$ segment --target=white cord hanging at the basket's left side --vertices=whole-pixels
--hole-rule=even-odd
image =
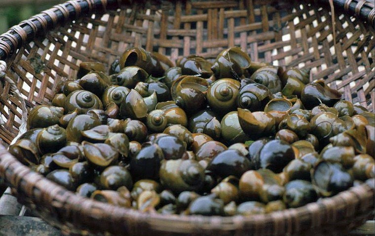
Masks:
[[[26,132],[26,123],[27,123],[27,108],[25,99],[22,97],[20,90],[18,90],[16,83],[11,79],[8,75],[6,75],[6,62],[0,61],[0,81],[7,82],[10,85],[10,91],[18,98],[18,100],[21,103],[21,109],[22,109],[22,118],[21,118],[21,124],[19,126],[19,132],[18,135],[13,139],[13,141],[10,144],[13,144],[17,141],[17,139]],[[0,125],[5,124],[5,121],[3,120],[1,114],[0,114]]]

